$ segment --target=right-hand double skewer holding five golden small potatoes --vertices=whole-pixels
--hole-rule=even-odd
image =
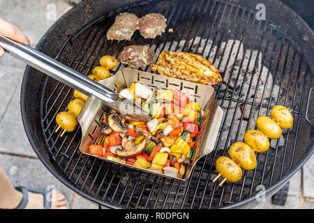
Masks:
[[[256,167],[256,153],[263,153],[269,149],[269,139],[278,139],[281,137],[281,128],[291,128],[293,117],[291,112],[281,105],[276,105],[271,109],[271,118],[259,116],[256,120],[256,126],[259,130],[248,130],[244,134],[244,142],[237,141],[229,148],[229,157],[218,157],[216,160],[216,169],[218,176],[214,178],[215,182],[220,176],[225,181],[237,182],[241,179],[242,169],[252,170]],[[269,138],[269,139],[268,139]]]

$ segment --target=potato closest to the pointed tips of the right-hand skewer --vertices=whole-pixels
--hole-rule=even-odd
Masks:
[[[237,182],[242,177],[242,169],[239,165],[225,156],[220,156],[217,159],[216,169],[229,182]]]

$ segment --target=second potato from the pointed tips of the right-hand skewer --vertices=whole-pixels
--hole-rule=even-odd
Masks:
[[[228,151],[231,159],[243,169],[251,170],[256,167],[256,156],[253,149],[244,142],[237,141]]]

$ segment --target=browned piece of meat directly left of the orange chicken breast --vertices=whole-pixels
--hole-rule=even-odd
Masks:
[[[140,68],[151,64],[155,59],[154,51],[147,46],[130,45],[124,47],[118,61],[128,64],[131,68]]]

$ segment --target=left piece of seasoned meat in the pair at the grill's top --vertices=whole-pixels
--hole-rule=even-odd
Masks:
[[[120,13],[107,31],[108,40],[130,40],[137,29],[138,17],[133,13]]]

